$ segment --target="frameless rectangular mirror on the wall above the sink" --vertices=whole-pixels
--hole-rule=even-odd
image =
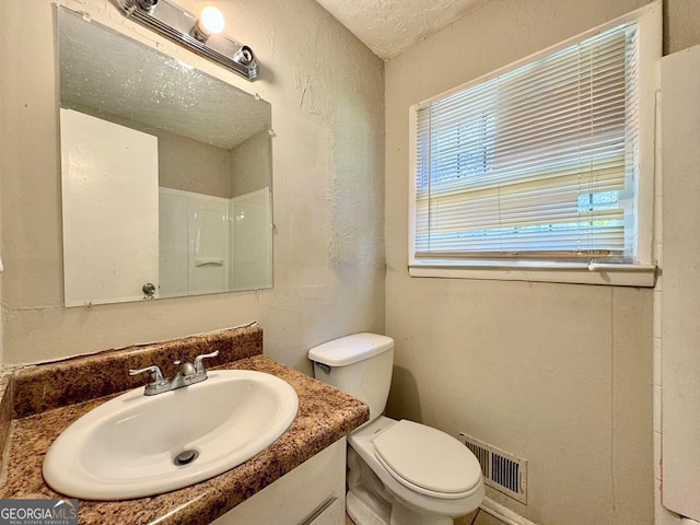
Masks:
[[[271,288],[270,104],[57,9],[66,306]]]

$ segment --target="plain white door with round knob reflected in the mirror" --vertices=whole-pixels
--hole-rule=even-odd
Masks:
[[[71,109],[60,120],[66,306],[141,300],[147,282],[158,295],[158,139]]]

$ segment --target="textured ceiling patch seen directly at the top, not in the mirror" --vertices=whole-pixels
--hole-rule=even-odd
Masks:
[[[316,0],[387,60],[487,0]]]

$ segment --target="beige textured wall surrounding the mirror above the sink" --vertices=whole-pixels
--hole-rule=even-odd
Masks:
[[[160,47],[272,104],[275,289],[62,306],[58,91],[51,0],[2,4],[4,362],[33,362],[249,320],[266,351],[311,372],[306,350],[384,329],[383,63],[313,0],[219,2],[255,49],[249,83],[172,44]],[[108,0],[66,0],[143,42]],[[178,0],[196,11],[203,2]]]

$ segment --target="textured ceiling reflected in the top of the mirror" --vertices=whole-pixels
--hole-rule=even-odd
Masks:
[[[68,10],[59,12],[61,105],[226,150],[270,128],[267,102]]]

